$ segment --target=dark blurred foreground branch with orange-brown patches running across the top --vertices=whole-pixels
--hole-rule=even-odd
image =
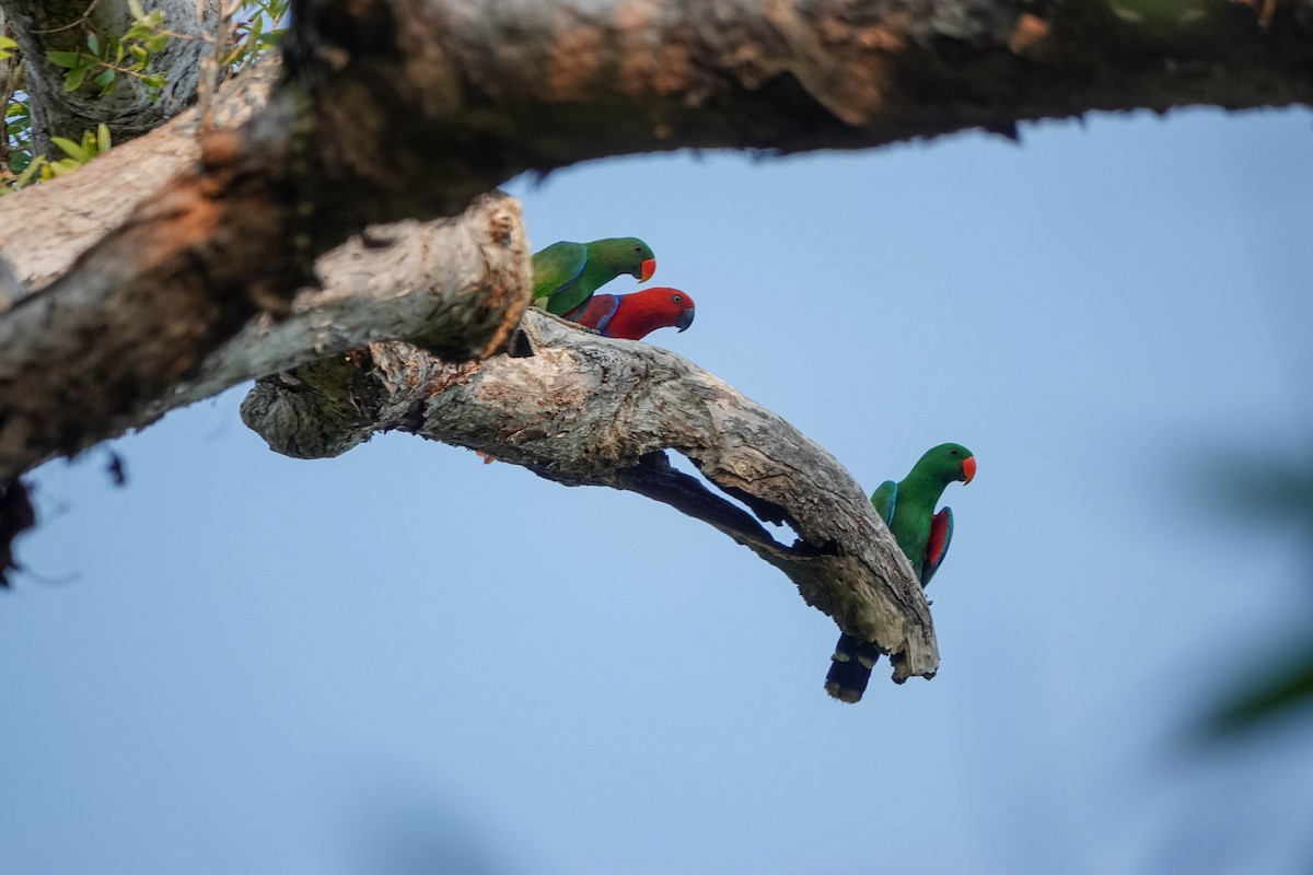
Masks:
[[[0,317],[0,471],[133,424],[370,222],[454,215],[520,171],[601,155],[1308,102],[1310,3],[306,0],[270,101]]]

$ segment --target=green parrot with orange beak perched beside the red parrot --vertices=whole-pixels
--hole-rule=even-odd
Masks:
[[[533,253],[533,304],[563,316],[622,273],[647,282],[655,272],[656,258],[638,237],[562,240]]]

